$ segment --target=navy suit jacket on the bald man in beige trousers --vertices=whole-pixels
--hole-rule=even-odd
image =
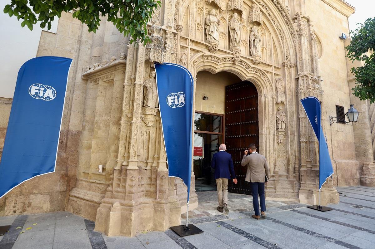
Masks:
[[[211,167],[215,170],[215,179],[217,178],[236,178],[232,155],[225,151],[219,151],[212,156]]]

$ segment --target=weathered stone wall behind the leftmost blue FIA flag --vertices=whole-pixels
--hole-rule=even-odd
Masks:
[[[75,181],[75,157],[78,154],[77,134],[68,132],[72,91],[77,72],[76,53],[80,46],[81,23],[72,18],[72,13],[62,13],[58,22],[57,33],[42,31],[37,57],[61,56],[73,58],[69,71],[68,89],[63,113],[60,142],[58,147],[56,171],[37,176],[17,186],[0,200],[0,216],[20,213],[41,213],[65,210],[66,195]],[[9,118],[10,104],[0,101],[0,148]],[[5,128],[4,128],[5,127]],[[69,149],[71,148],[71,149]],[[73,168],[68,165],[74,165]]]

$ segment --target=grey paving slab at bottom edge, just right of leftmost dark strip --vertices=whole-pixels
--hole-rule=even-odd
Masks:
[[[20,231],[21,232],[21,231]],[[27,230],[18,236],[14,243],[13,249],[24,249],[31,246],[41,246],[52,244],[55,231],[52,229],[44,231]]]

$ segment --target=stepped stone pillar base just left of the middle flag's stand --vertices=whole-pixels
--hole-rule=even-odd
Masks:
[[[96,214],[95,231],[107,236],[133,237],[138,231],[165,231],[181,223],[181,207],[177,201],[131,204],[114,199],[102,200]]]

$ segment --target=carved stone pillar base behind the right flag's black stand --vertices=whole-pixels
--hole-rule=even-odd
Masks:
[[[300,189],[299,191],[300,203],[309,205],[319,204],[319,191],[312,189]],[[320,204],[322,206],[327,204],[339,203],[339,193],[336,189],[322,189],[320,192]]]

